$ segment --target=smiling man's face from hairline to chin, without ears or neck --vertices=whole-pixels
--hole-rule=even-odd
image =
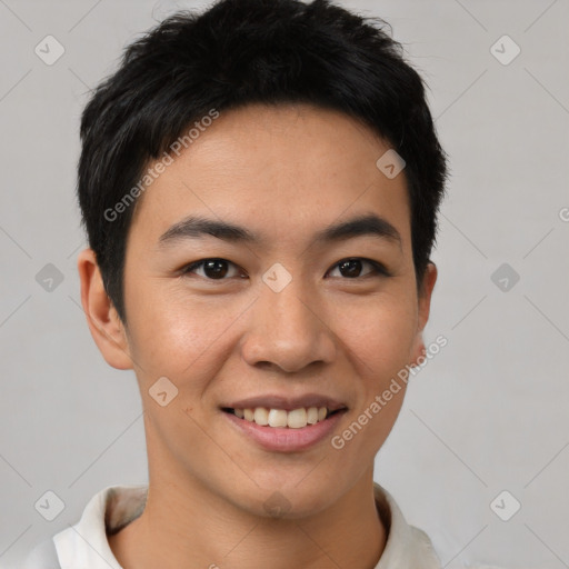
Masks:
[[[341,113],[250,106],[221,113],[146,191],[124,350],[151,483],[258,515],[278,491],[307,516],[370,471],[405,383],[370,409],[421,355],[435,283],[418,296],[405,174],[376,166],[388,148]]]

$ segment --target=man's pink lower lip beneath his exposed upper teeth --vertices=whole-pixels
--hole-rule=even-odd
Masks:
[[[221,412],[241,432],[253,439],[263,449],[273,452],[295,452],[306,450],[329,437],[346,411],[339,411],[323,421],[307,425],[301,429],[263,427],[246,419],[239,419],[233,413]]]

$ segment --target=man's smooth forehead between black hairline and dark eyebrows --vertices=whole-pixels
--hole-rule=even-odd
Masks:
[[[406,239],[405,174],[389,179],[377,168],[390,147],[356,119],[309,104],[254,104],[196,132],[139,199],[131,231],[156,242],[199,214],[290,240],[375,211]]]

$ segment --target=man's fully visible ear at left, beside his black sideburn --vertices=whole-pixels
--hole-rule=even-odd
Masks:
[[[91,336],[102,357],[113,368],[132,369],[124,326],[107,296],[92,249],[84,249],[79,253],[77,268],[81,280],[81,305]]]

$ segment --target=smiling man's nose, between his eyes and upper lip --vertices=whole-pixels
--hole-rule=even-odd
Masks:
[[[315,362],[330,363],[336,350],[322,302],[308,295],[300,279],[280,292],[261,287],[241,342],[244,361],[292,373]]]

